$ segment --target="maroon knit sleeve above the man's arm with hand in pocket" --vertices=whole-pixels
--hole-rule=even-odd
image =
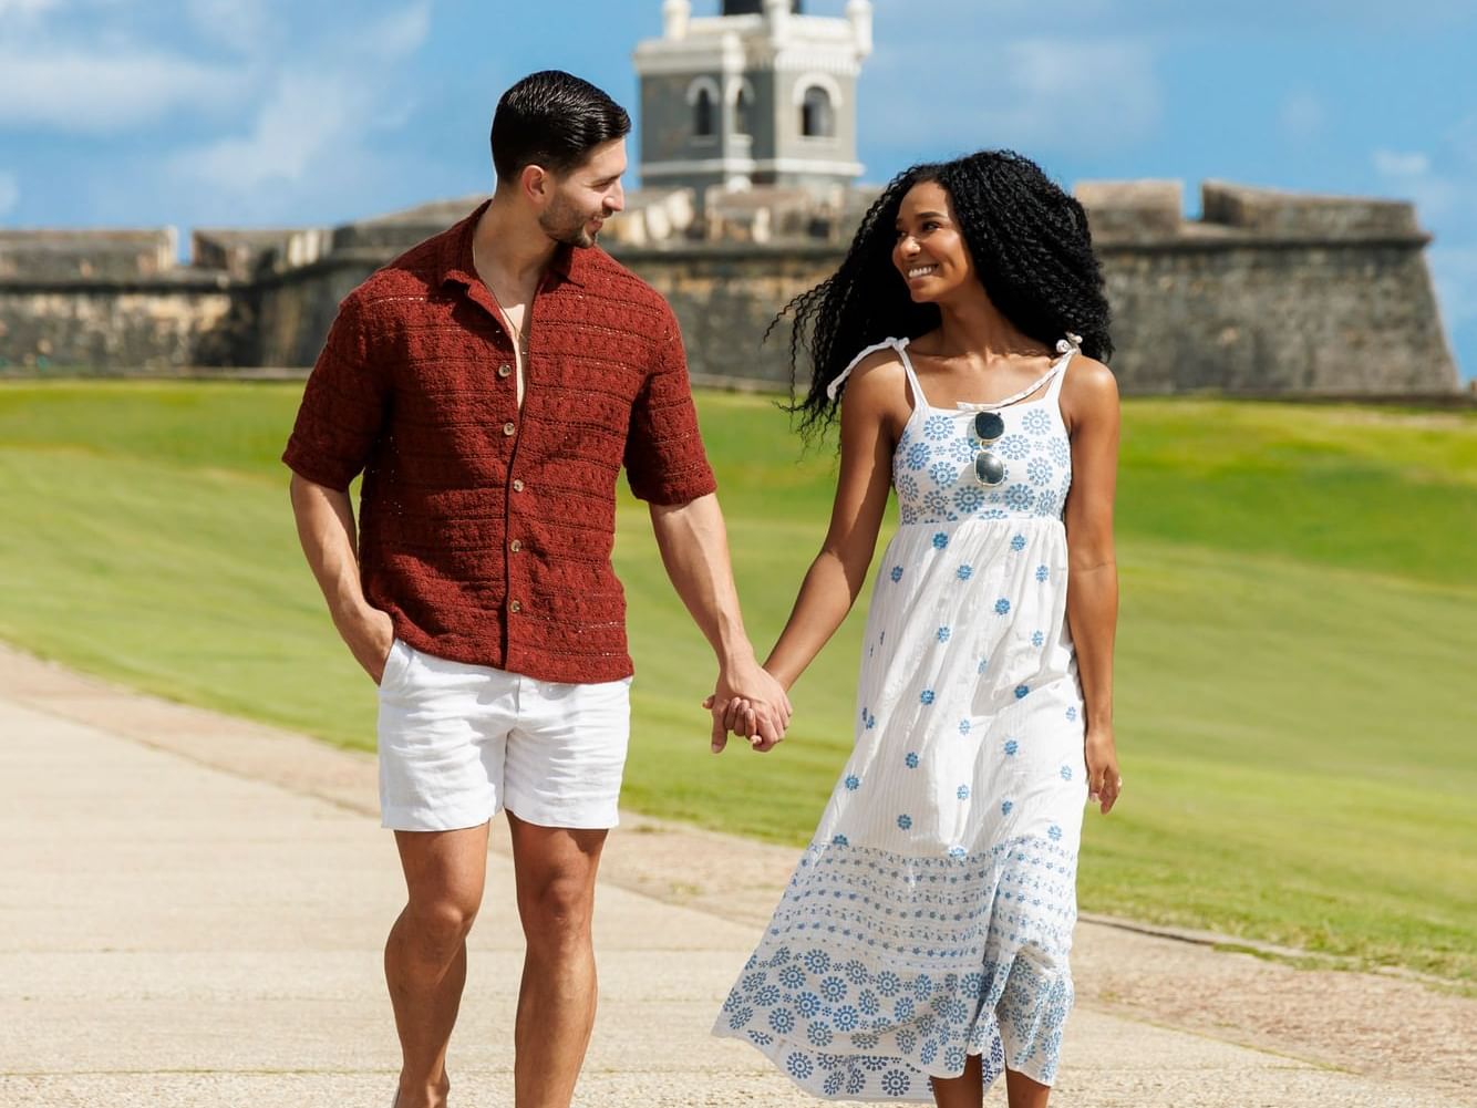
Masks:
[[[363,316],[353,294],[338,306],[282,454],[288,468],[329,489],[359,476],[384,423],[387,375]]]

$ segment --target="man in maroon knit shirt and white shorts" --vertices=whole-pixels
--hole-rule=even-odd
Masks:
[[[622,464],[718,654],[716,696],[758,706],[756,746],[789,722],[738,616],[676,321],[595,247],[623,205],[629,129],[569,74],[510,89],[493,198],[349,294],[284,455],[334,625],[380,684],[381,811],[409,892],[384,956],[397,1108],[446,1104],[487,821],[504,808],[527,941],[515,1102],[570,1102],[629,731],[610,564]],[[722,739],[715,719],[713,749]]]

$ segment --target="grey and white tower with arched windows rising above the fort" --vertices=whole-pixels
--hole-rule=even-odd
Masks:
[[[857,75],[871,53],[871,3],[845,18],[801,0],[724,0],[693,18],[665,0],[665,30],[635,52],[641,182],[691,188],[805,188],[833,201],[860,174]]]

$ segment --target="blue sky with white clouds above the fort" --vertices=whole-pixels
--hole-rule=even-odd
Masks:
[[[477,192],[501,90],[560,66],[634,105],[660,9],[0,0],[0,226],[297,226]],[[1192,214],[1207,177],[1415,199],[1477,375],[1473,0],[877,0],[876,41],[868,180],[1013,146],[1065,185],[1180,179]]]

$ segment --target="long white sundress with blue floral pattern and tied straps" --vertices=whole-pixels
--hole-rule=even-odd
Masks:
[[[1087,771],[1059,396],[1077,346],[1013,397],[939,409],[907,344],[852,362],[895,349],[914,400],[855,749],[713,1027],[830,1099],[932,1102],[929,1077],[972,1053],[987,1087],[1006,1067],[1050,1084],[1072,1005]],[[981,409],[1004,420],[993,489],[975,477]]]

